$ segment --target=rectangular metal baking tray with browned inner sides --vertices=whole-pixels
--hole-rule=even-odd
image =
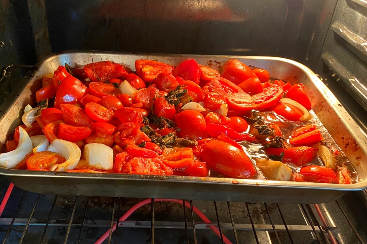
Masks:
[[[302,82],[309,94],[314,112],[337,144],[345,152],[359,175],[351,185],[301,183],[271,180],[245,180],[215,177],[152,176],[106,173],[44,172],[0,168],[15,186],[42,194],[116,196],[134,198],[175,198],[238,202],[325,203],[347,191],[367,188],[366,134],[346,112],[337,98],[309,68],[296,61],[279,57],[208,56],[135,54],[101,51],[65,51],[51,54],[34,65],[18,83],[18,90],[0,106],[0,144],[4,145],[21,123],[27,104],[33,104],[34,92],[40,87],[42,75],[67,63],[82,67],[92,61],[111,60],[135,70],[136,59],[152,59],[177,65],[195,58],[200,64],[219,68],[228,59],[265,68],[271,77],[291,83]]]

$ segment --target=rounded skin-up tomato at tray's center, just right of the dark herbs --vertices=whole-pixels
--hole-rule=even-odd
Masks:
[[[185,139],[206,138],[206,123],[204,116],[196,110],[183,110],[175,116],[179,137]]]

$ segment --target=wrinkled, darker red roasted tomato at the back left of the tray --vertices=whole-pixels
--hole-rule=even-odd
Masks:
[[[104,82],[127,74],[122,65],[110,61],[84,65],[84,71],[92,82]]]

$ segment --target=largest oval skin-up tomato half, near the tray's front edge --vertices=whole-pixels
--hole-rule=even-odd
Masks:
[[[221,140],[210,140],[200,154],[200,160],[209,168],[229,177],[248,179],[256,176],[250,158],[243,150]]]

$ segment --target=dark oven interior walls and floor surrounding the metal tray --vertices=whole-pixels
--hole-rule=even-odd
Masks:
[[[62,50],[279,56],[319,74],[367,131],[366,26],[363,0],[4,0],[0,101]],[[0,200],[2,243],[367,243],[366,190],[315,205],[148,199],[116,230],[145,199],[34,194],[0,176]]]

